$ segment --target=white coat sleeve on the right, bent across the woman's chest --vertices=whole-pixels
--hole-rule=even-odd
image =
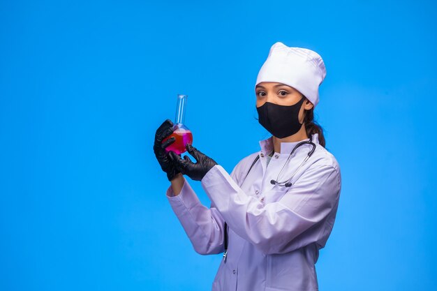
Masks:
[[[309,167],[281,200],[262,204],[246,195],[220,165],[202,187],[229,227],[262,253],[288,253],[329,236],[339,200],[341,177],[332,165]]]

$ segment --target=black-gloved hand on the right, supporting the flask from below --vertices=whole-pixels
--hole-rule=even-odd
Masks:
[[[198,149],[191,144],[187,144],[186,149],[188,150],[188,153],[195,158],[197,163],[193,163],[188,156],[181,158],[181,156],[177,155],[174,151],[169,151],[168,154],[177,170],[182,172],[182,174],[186,174],[193,180],[200,181],[205,174],[214,167],[214,165],[217,165],[217,163],[212,158],[209,158],[209,156],[202,154],[202,152],[198,151]]]

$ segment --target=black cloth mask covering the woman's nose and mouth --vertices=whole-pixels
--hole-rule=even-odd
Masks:
[[[299,110],[302,103],[304,103],[303,96],[299,102],[290,106],[266,102],[256,107],[258,121],[275,137],[283,138],[294,135],[302,127],[299,122]]]

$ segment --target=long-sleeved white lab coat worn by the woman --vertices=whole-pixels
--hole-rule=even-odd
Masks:
[[[223,227],[228,223],[228,258],[220,262],[213,291],[318,290],[315,264],[334,225],[341,173],[317,134],[313,142],[316,150],[290,188],[270,180],[276,180],[298,142],[281,143],[281,154],[275,152],[267,167],[272,137],[261,140],[260,151],[243,158],[230,175],[221,165],[207,172],[201,183],[211,200],[209,208],[186,180],[177,196],[168,188],[170,205],[196,252],[223,253]],[[291,177],[310,149],[309,144],[296,149],[279,181]]]

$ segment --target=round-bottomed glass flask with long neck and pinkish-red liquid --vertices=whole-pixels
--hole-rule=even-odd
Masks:
[[[187,98],[188,95],[177,95],[176,119],[173,126],[175,131],[163,140],[165,142],[165,140],[175,137],[175,142],[166,147],[165,150],[175,151],[176,154],[184,153],[186,151],[186,144],[193,144],[193,133],[184,125]]]

